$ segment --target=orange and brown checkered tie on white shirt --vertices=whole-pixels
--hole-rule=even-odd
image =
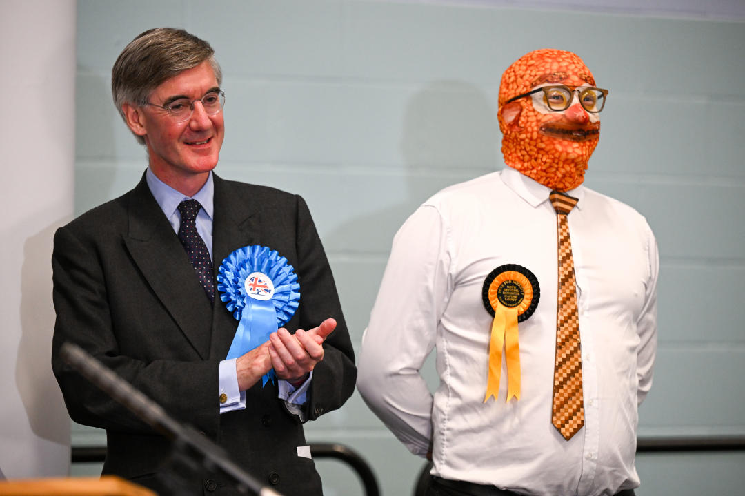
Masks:
[[[554,361],[554,401],[551,423],[565,439],[571,439],[585,425],[582,395],[582,347],[577,314],[574,260],[567,215],[577,199],[558,191],[549,196],[557,211],[559,230],[559,298],[557,301],[557,355]]]

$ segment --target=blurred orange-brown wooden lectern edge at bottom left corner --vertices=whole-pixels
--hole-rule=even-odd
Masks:
[[[0,480],[0,496],[156,496],[121,477]]]

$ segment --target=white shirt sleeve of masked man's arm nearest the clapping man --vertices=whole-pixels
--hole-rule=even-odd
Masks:
[[[419,370],[450,292],[447,237],[440,213],[426,205],[396,233],[358,358],[363,399],[419,456],[430,447],[433,401]]]

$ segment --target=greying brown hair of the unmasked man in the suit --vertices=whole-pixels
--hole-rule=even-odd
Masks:
[[[165,80],[205,61],[212,65],[219,86],[223,74],[208,42],[183,29],[145,31],[124,48],[111,70],[111,93],[116,109],[124,118],[124,103],[134,106],[148,103],[150,93]],[[135,138],[145,144],[142,136]]]

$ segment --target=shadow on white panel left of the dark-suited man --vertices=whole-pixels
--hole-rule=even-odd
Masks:
[[[59,219],[23,245],[21,267],[21,339],[16,358],[16,387],[31,430],[38,437],[70,445],[70,417],[51,371],[54,307],[51,301],[51,239]]]

